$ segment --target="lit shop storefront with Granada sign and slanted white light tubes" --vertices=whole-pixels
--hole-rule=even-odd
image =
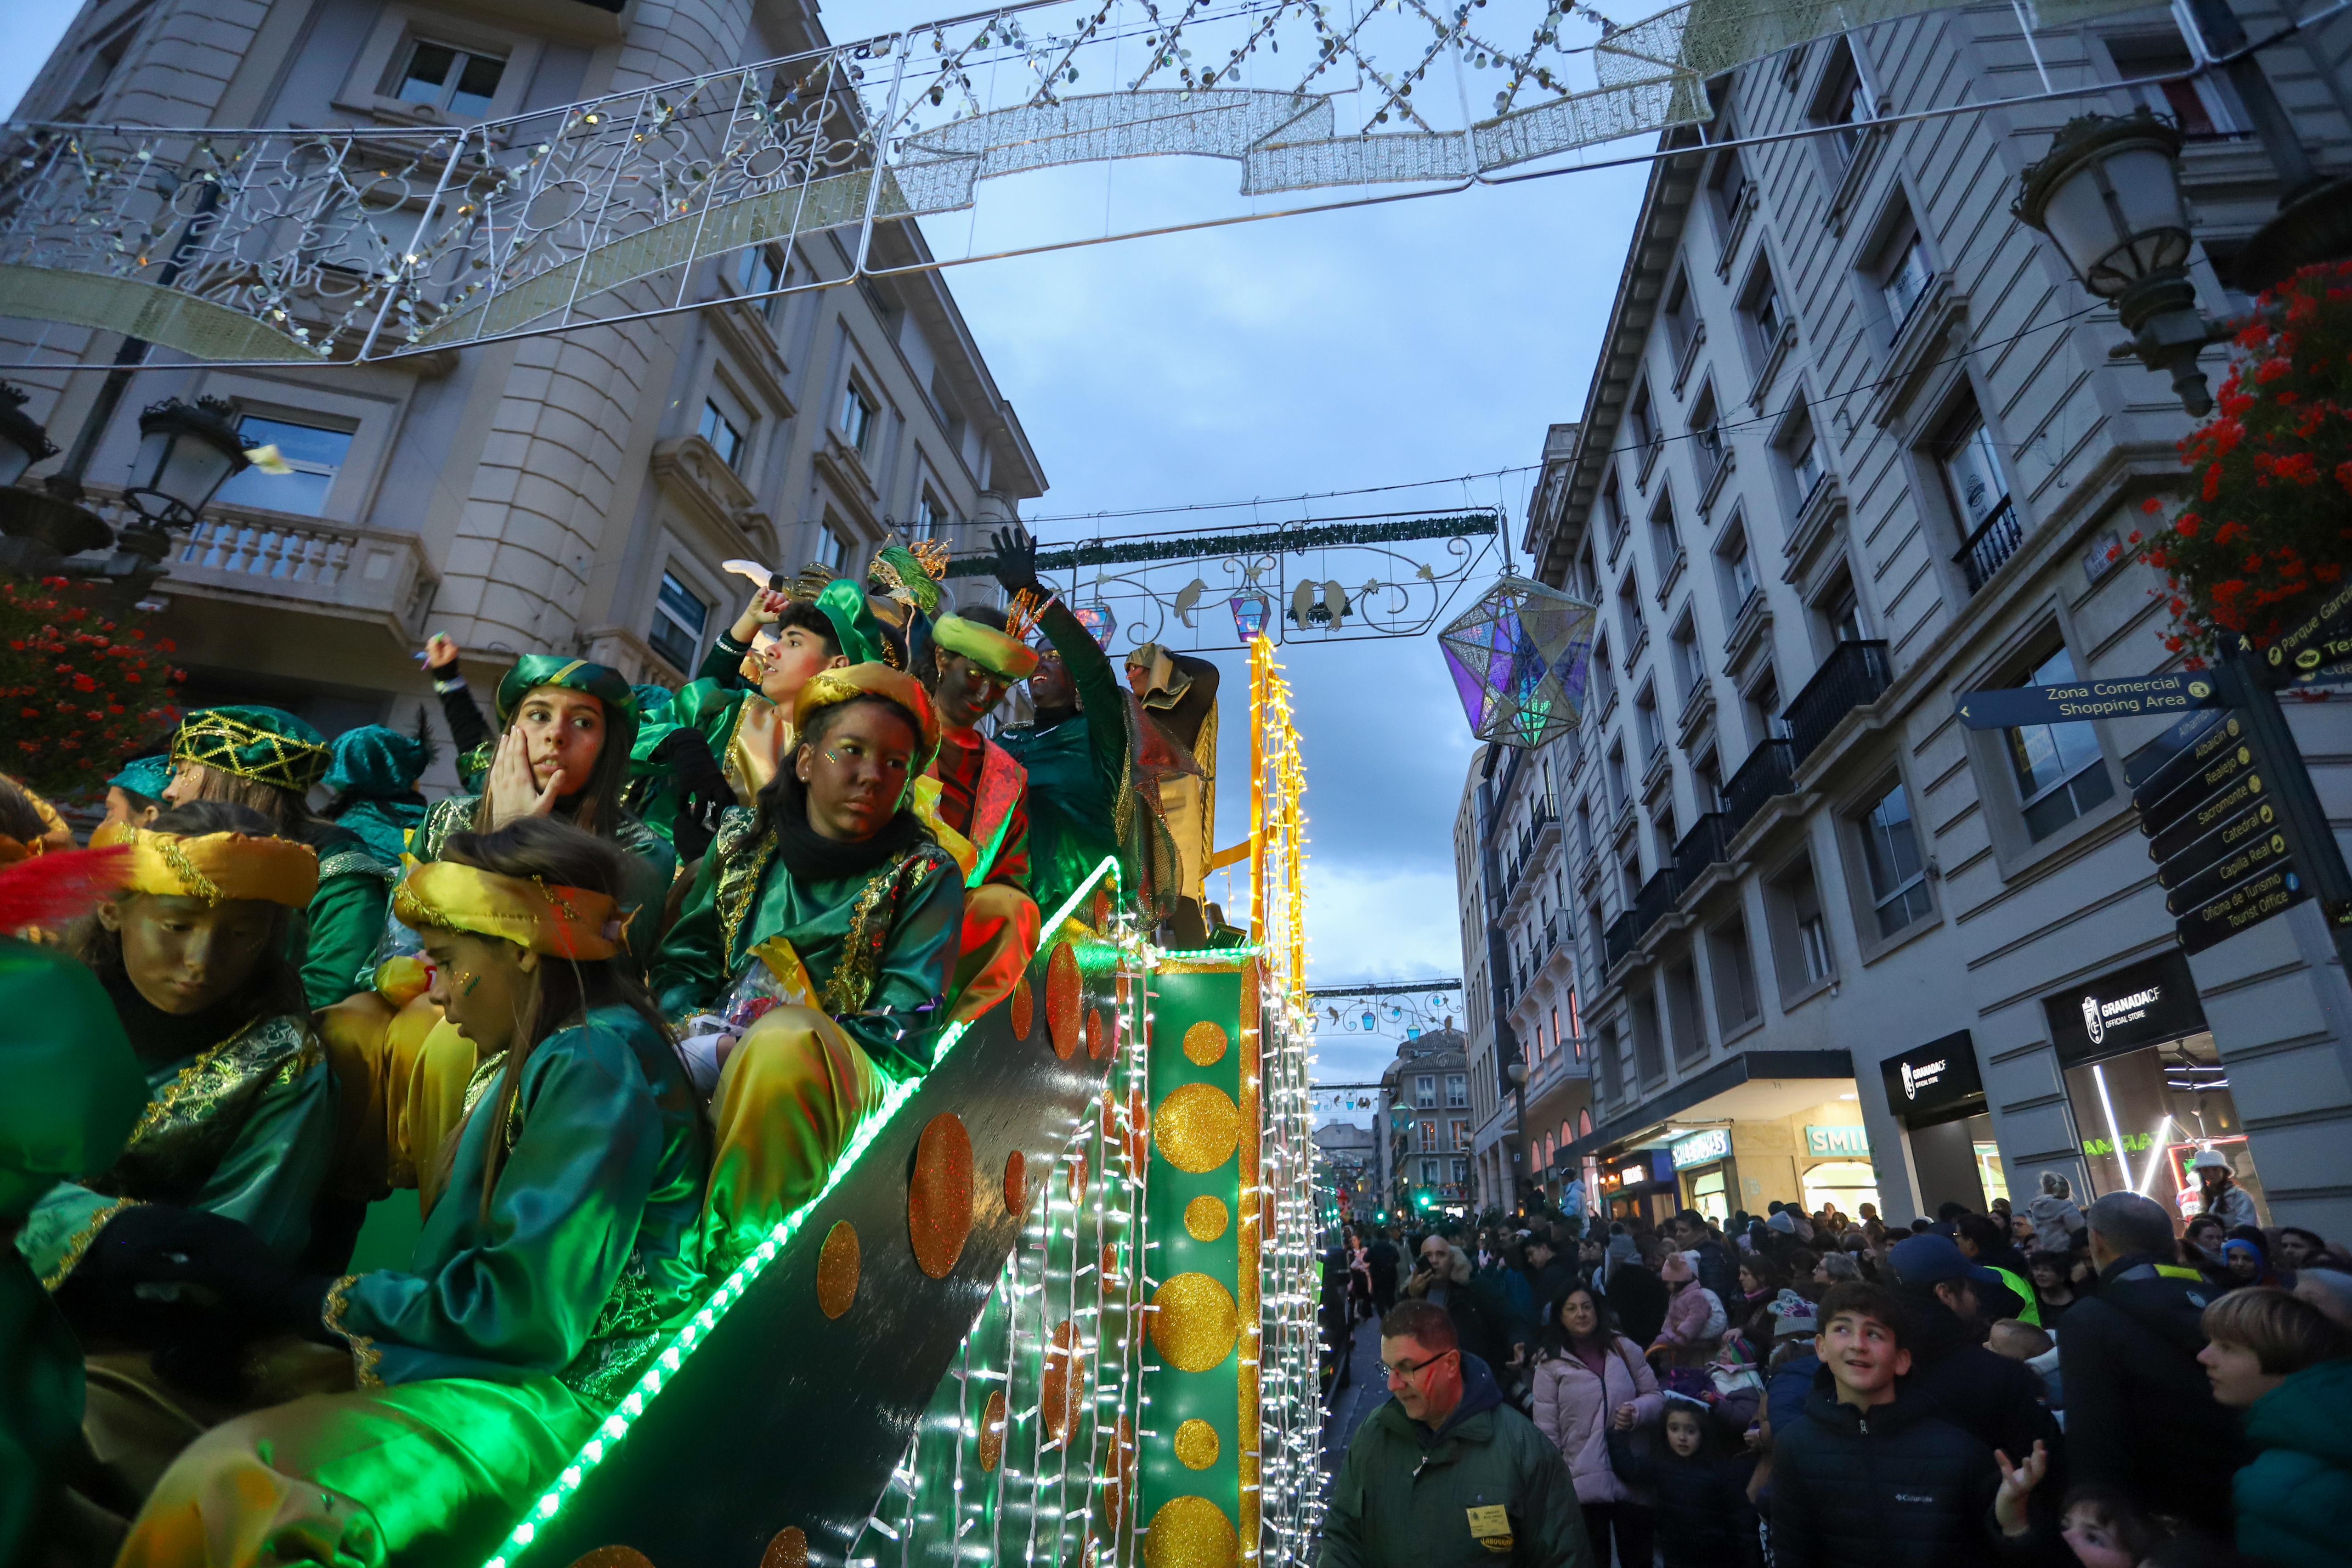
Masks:
[[[2190,1218],[2204,1208],[2192,1164],[2216,1150],[2270,1222],[2230,1072],[2185,957],[2166,952],[2117,969],[2042,1006],[2093,1194],[2140,1192]]]

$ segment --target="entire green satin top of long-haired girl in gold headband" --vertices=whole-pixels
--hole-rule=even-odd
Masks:
[[[670,1044],[626,1006],[588,1013],[522,1063],[510,1131],[492,1084],[405,1272],[329,1293],[362,1387],[560,1378],[612,1406],[701,1288],[694,1227],[710,1145]],[[492,1138],[513,1147],[489,1218]]]

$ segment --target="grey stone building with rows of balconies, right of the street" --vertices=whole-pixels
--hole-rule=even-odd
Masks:
[[[2347,54],[2343,16],[2260,52],[2336,172]],[[2317,907],[2183,959],[2126,778],[2164,722],[1955,717],[2173,663],[2119,545],[2180,494],[2190,421],[2009,202],[2065,115],[2173,113],[2201,303],[2244,308],[2227,263],[2279,193],[2218,78],[2133,85],[2187,63],[2164,9],[2032,40],[1933,12],[1715,82],[1715,125],[1651,169],[1526,531],[1599,607],[1590,708],[1496,769],[1541,783],[1498,842],[1562,846],[1569,952],[1534,969],[1573,973],[1595,1126],[1566,1159],[1621,1213],[1907,1220],[2044,1171],[2192,1206],[2216,1147],[2274,1222],[2352,1225],[2352,992]],[[1882,122],[2044,75],[2093,92]],[[1818,134],[1717,146],[1780,132]],[[2291,719],[2343,825],[2352,717]]]

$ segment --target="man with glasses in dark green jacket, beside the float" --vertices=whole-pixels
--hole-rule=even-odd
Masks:
[[[1425,1300],[1381,1321],[1390,1399],[1348,1443],[1319,1568],[1592,1568],[1566,1460]]]

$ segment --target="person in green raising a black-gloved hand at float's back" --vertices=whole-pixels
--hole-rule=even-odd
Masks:
[[[1051,651],[1030,675],[1035,724],[997,736],[1028,771],[1030,891],[1058,910],[1105,856],[1138,898],[1174,891],[1174,839],[1134,788],[1134,729],[1127,686],[1077,616],[1037,581],[1037,541],[1021,524],[990,538],[995,578],[1009,597],[1028,595]],[[1150,872],[1157,867],[1157,877]]]

